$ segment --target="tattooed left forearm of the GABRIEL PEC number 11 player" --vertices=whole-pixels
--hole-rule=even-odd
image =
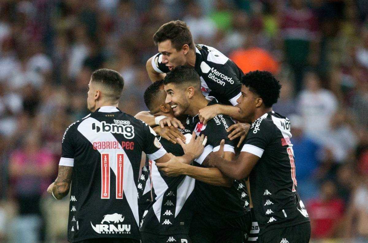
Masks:
[[[71,176],[73,173],[73,167],[71,166],[59,166],[59,174],[54,182],[52,189],[54,196],[61,199],[68,195],[71,183]]]

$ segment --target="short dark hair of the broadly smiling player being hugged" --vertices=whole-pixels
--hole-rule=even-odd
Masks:
[[[177,66],[173,68],[163,79],[163,83],[175,84],[180,86],[193,86],[196,89],[201,89],[201,80],[197,71],[194,68],[186,66]]]

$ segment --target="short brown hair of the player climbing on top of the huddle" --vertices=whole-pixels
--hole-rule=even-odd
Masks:
[[[195,48],[189,27],[181,20],[170,21],[161,25],[158,31],[153,35],[153,42],[155,42],[155,45],[165,40],[171,40],[172,45],[177,51],[181,50],[185,44],[193,50]]]

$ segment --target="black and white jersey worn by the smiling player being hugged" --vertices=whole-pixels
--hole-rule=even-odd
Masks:
[[[217,104],[212,96],[206,97],[211,102],[208,105]],[[218,115],[209,120],[206,125],[199,122],[198,115],[188,116],[187,126],[199,135],[207,136],[207,145],[201,156],[195,159],[195,166],[202,166],[204,159],[210,152],[216,152],[220,148],[220,142],[225,140],[224,151],[234,152],[237,141],[231,141],[227,137],[227,128],[234,124],[228,116]],[[249,196],[245,180],[234,180],[231,187],[212,186],[197,181],[195,184],[195,211],[198,215],[206,215],[212,218],[234,218],[250,211]]]

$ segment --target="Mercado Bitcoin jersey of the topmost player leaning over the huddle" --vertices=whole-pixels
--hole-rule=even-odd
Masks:
[[[152,67],[158,73],[170,70],[162,63],[162,54],[152,58]],[[240,97],[243,71],[228,57],[213,47],[195,45],[195,71],[201,78],[201,89],[205,96],[214,96],[225,105],[237,105]]]

